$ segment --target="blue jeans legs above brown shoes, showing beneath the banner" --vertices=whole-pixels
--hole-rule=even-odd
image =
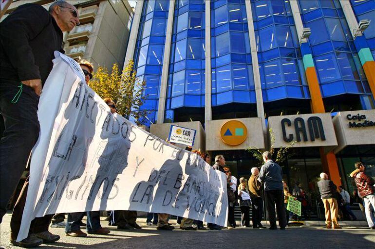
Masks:
[[[84,212],[69,213],[66,221],[65,232],[74,232],[80,229]],[[100,225],[100,211],[89,211],[87,216],[87,232],[96,232],[102,228]]]

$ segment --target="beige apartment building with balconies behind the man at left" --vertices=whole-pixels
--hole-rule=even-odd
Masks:
[[[48,9],[53,0],[13,0],[3,20],[19,5],[37,3]],[[79,26],[64,33],[65,54],[89,60],[94,67],[123,67],[134,11],[127,0],[70,0],[79,12]]]

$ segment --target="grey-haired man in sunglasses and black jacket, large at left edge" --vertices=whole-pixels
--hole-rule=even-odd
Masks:
[[[37,4],[24,4],[0,23],[0,108],[5,124],[0,142],[0,219],[38,140],[38,100],[53,67],[54,51],[61,51],[62,32],[79,23],[77,13],[65,1],[54,2],[49,11]],[[33,224],[30,231],[43,232],[33,229]],[[12,233],[11,242],[18,246],[42,242],[34,235],[15,242],[16,236]]]

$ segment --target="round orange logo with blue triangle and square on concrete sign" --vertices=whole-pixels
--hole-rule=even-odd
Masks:
[[[247,138],[246,126],[238,120],[230,120],[220,129],[220,137],[227,145],[240,145]]]

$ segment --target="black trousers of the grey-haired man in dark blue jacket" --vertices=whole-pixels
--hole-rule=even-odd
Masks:
[[[282,190],[267,190],[264,191],[267,211],[269,215],[269,224],[271,228],[276,228],[276,213],[279,219],[280,228],[285,228],[285,204],[284,193]],[[276,204],[276,210],[275,210]]]

